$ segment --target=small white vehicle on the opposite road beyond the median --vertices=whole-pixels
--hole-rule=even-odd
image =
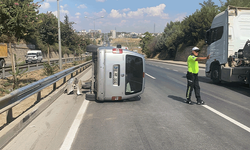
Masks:
[[[29,50],[26,55],[26,63],[42,62],[43,55],[41,50]]]

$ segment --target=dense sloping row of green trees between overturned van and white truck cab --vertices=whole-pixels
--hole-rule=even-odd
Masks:
[[[220,12],[220,8],[212,0],[200,3],[200,6],[200,10],[196,10],[182,21],[167,23],[159,37],[142,39],[142,52],[148,57],[160,52],[168,58],[174,58],[177,50],[183,45],[193,46],[199,43],[202,47],[201,44],[205,43],[200,41],[204,41],[206,31],[210,28],[215,15]],[[165,57],[161,56],[161,58]]]

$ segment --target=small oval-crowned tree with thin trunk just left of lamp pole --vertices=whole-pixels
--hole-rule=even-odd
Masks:
[[[50,64],[50,45],[55,44],[58,35],[57,18],[51,13],[41,14],[42,23],[39,26],[40,38],[47,45],[48,62]]]

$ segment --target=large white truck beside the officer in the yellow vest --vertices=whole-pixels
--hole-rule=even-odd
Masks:
[[[206,76],[214,83],[250,83],[250,8],[228,6],[206,36]]]

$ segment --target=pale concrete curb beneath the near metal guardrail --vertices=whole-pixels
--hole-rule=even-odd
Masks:
[[[85,69],[74,78],[81,78],[84,72],[89,71],[91,67]],[[64,93],[66,84],[59,87],[51,95],[41,100],[37,106],[34,106],[23,115],[19,116],[13,122],[4,127],[0,132],[0,149],[3,149],[10,140],[17,136],[29,123],[31,123],[40,113],[42,113],[47,107],[49,107],[59,96]]]

